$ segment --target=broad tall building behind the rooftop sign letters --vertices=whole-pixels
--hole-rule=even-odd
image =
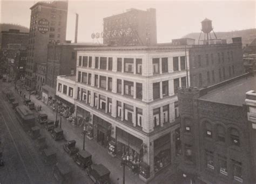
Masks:
[[[152,45],[157,43],[156,9],[129,9],[103,19],[103,44]]]

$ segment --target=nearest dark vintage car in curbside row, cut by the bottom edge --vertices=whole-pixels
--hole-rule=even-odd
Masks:
[[[87,175],[94,183],[110,184],[110,171],[102,164],[93,164],[86,168]]]

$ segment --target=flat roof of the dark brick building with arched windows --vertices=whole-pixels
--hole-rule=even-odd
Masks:
[[[246,77],[231,81],[231,83],[218,87],[217,89],[208,92],[206,95],[199,99],[212,101],[216,103],[230,104],[236,106],[242,106],[245,103],[247,91],[256,91],[256,76]]]

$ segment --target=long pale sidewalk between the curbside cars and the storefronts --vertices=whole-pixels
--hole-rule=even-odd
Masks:
[[[26,92],[29,95],[29,92]],[[43,103],[41,100],[37,100],[35,95],[30,96],[31,101],[35,103],[35,107],[38,105],[42,106],[42,111],[39,113],[48,114],[48,119],[56,119],[56,112],[53,112],[51,108]],[[59,119],[59,117],[58,117]],[[73,127],[71,123],[66,119],[62,118],[62,129],[64,131],[64,137],[66,140],[76,140],[76,146],[82,150],[83,149],[83,136],[81,135],[82,127]],[[123,183],[123,166],[121,166],[121,161],[117,158],[112,158],[107,153],[107,149],[100,146],[95,140],[89,140],[85,137],[85,150],[92,154],[93,163],[102,163],[106,166],[111,174],[110,179],[112,183]],[[117,180],[119,178],[119,181]],[[130,168],[125,167],[125,183],[144,183],[139,179],[138,174],[134,175]]]

